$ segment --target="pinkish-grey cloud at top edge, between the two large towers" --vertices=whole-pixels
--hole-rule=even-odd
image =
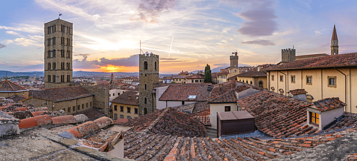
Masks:
[[[149,23],[156,24],[157,17],[169,9],[174,8],[176,6],[178,0],[141,0],[138,9],[137,19],[131,19],[133,21],[145,21]]]

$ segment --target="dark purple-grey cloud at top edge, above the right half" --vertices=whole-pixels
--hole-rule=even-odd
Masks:
[[[236,14],[244,22],[241,28],[238,28],[238,33],[246,36],[271,36],[273,31],[277,29],[278,24],[273,19],[277,17],[274,15],[275,10],[271,9],[273,1],[232,1],[224,0],[225,3],[243,5],[247,4],[246,11]]]

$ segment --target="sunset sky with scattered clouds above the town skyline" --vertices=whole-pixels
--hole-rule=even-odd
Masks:
[[[160,73],[357,51],[357,1],[347,0],[5,0],[0,5],[0,71],[44,71],[44,23],[74,24],[74,71],[139,72],[141,50],[158,54]]]

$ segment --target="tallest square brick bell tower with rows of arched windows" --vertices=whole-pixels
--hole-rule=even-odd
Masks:
[[[45,88],[72,85],[73,24],[61,19],[44,24]]]

